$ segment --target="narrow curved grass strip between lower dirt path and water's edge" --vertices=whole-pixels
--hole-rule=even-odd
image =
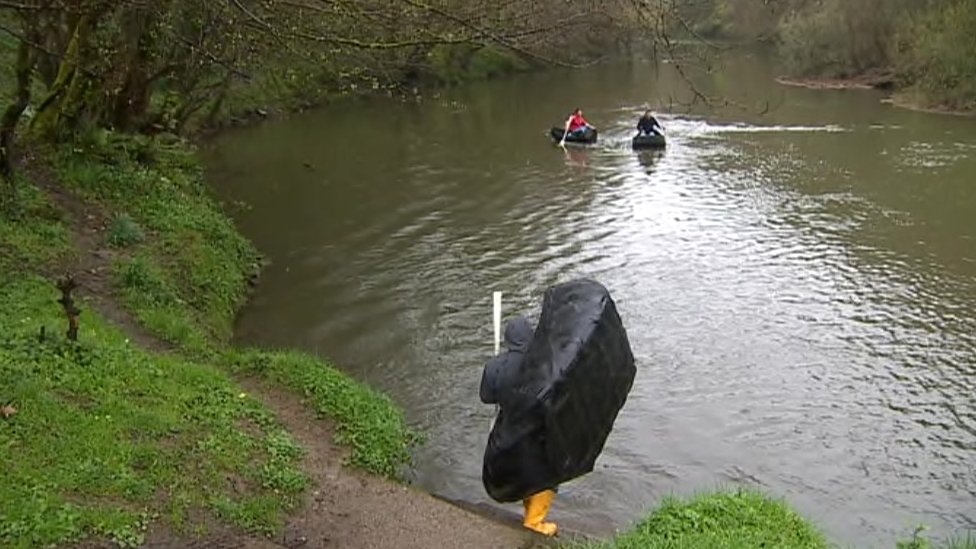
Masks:
[[[239,374],[259,375],[304,394],[318,413],[336,422],[336,441],[352,449],[350,463],[365,471],[396,478],[419,441],[389,398],[314,357],[248,351],[233,364]]]

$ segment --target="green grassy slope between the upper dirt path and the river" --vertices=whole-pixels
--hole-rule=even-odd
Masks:
[[[256,250],[208,195],[187,144],[172,138],[102,136],[63,149],[56,167],[69,188],[110,210],[129,212],[135,223],[155,235],[147,245],[166,298],[159,301],[157,295],[147,301],[127,291],[127,299],[147,327],[169,341],[192,339],[187,330],[194,326],[200,329],[191,331],[199,331],[201,337],[226,340],[245,298],[247,280],[257,268]],[[146,159],[152,159],[151,166],[145,165]],[[150,305],[169,307],[172,314],[159,314]],[[184,305],[194,313],[179,311]]]

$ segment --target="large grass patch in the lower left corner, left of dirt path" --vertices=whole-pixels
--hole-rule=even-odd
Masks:
[[[0,400],[17,408],[0,421],[0,546],[136,546],[151,518],[187,528],[226,500],[248,529],[280,527],[306,481],[274,416],[223,371],[147,353],[84,305],[78,343],[39,341],[63,329],[57,296],[32,276],[0,286]]]

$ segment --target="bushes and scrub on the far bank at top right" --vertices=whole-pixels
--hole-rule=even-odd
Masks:
[[[710,36],[764,40],[792,76],[876,75],[901,103],[976,110],[976,0],[710,0]]]

